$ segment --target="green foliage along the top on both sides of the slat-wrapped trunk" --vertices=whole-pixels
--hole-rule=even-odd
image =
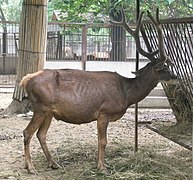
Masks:
[[[6,20],[19,21],[23,0],[0,0]],[[65,14],[63,21],[67,22],[104,22],[112,10],[124,7],[130,22],[135,22],[136,1],[134,0],[49,0],[48,18],[52,18],[53,10]],[[145,0],[140,1],[141,10],[151,10],[159,7],[160,18],[177,18],[193,15],[192,0]]]

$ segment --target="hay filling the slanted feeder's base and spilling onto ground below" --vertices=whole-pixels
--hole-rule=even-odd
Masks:
[[[184,83],[184,86],[187,83]],[[172,122],[170,119],[165,122],[152,121],[150,129],[151,127],[155,128],[156,132],[162,136],[191,149],[193,99],[190,97],[192,97],[192,94],[190,94],[190,91],[182,89],[180,83],[176,85],[163,84],[163,87],[175,115],[176,122]]]

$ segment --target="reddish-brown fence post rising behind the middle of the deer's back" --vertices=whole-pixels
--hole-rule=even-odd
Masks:
[[[87,60],[87,29],[88,27],[84,25],[82,27],[82,70],[86,70],[86,60]]]

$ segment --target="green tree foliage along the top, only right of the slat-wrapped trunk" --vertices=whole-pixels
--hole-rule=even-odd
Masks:
[[[124,7],[130,22],[135,22],[136,1],[134,0],[52,0],[50,2],[55,9],[66,13],[62,18],[68,22],[89,22],[89,13],[95,17],[92,22],[101,22],[103,16],[109,16],[110,12],[115,12]],[[141,10],[151,10],[155,12],[160,9],[160,18],[177,18],[192,16],[192,0],[145,0],[140,1]],[[99,16],[100,15],[100,16]]]

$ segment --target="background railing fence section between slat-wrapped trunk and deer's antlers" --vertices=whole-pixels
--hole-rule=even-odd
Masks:
[[[119,36],[122,35],[119,33]],[[110,53],[114,51],[110,24],[82,25],[52,22],[48,25],[47,42],[47,60],[52,61],[81,60],[84,50],[88,61],[128,61],[135,58],[135,42],[129,34],[120,42],[125,44],[126,57],[110,58]]]

